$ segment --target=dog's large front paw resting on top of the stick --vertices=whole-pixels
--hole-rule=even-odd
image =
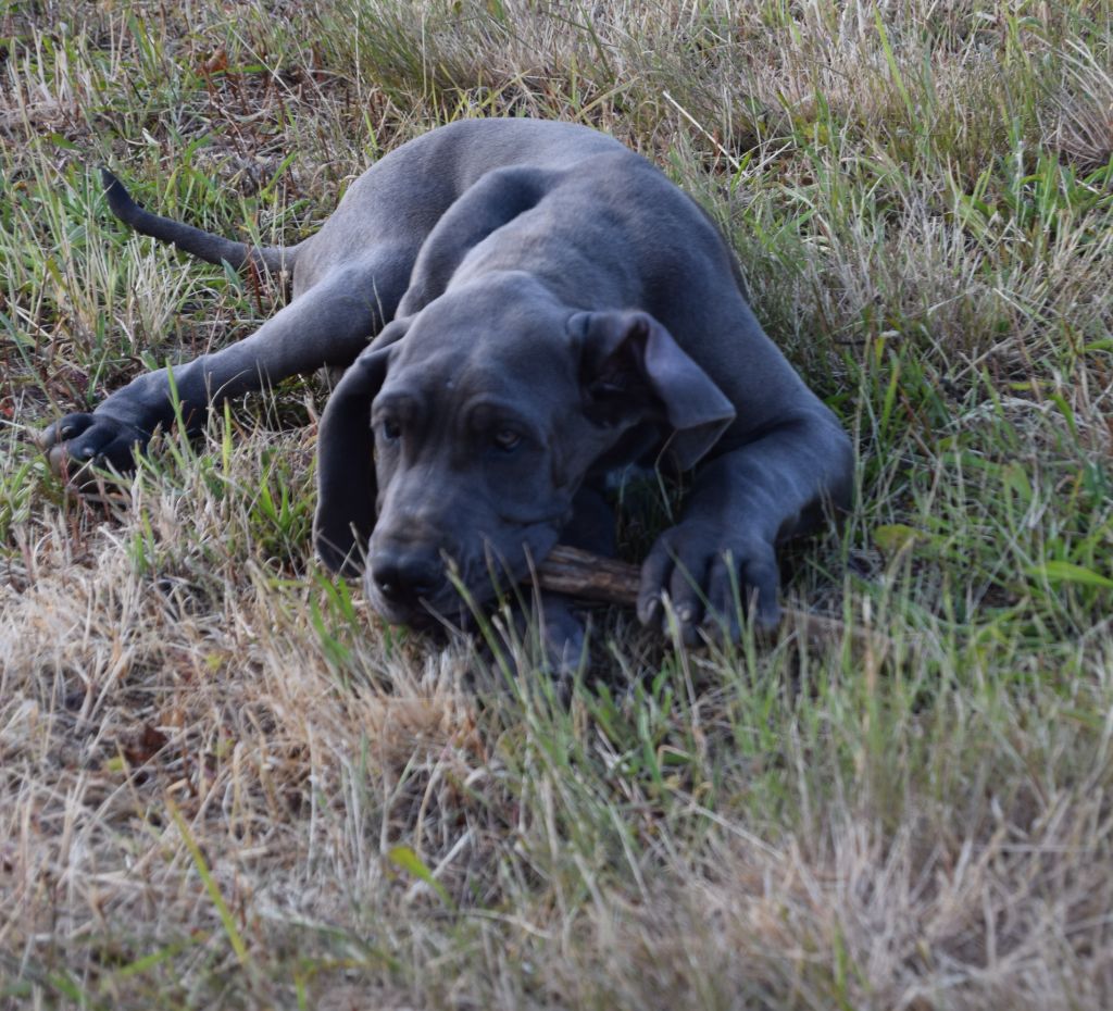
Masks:
[[[667,629],[662,595],[668,595],[687,645],[699,642],[701,629],[711,637],[735,641],[740,632],[740,611],[762,630],[777,627],[779,583],[777,557],[769,541],[686,521],[666,530],[643,562],[638,617],[643,625]]]

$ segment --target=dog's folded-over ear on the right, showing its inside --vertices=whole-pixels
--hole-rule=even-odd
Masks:
[[[669,453],[695,467],[735,420],[735,406],[649,313],[577,313],[580,382],[589,416],[620,424],[654,413],[673,428]],[[663,412],[662,412],[663,409]]]

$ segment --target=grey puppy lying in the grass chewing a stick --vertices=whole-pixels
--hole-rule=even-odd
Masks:
[[[138,207],[127,224],[203,259],[293,268],[293,298],[246,340],[117,391],[43,433],[56,470],[126,469],[174,418],[322,366],[317,552],[365,568],[386,619],[489,600],[561,540],[613,549],[607,475],[695,470],[641,570],[640,619],[673,603],[688,641],[735,637],[739,601],[779,619],[778,541],[845,507],[846,433],[754,317],[699,205],[587,127],[476,119],[429,132],[352,184],[319,232],[254,248]],[[368,343],[370,342],[370,343]],[[374,460],[374,462],[372,462]],[[552,605],[549,610],[549,603]],[[546,615],[574,638],[560,601]],[[551,634],[552,635],[552,634]]]

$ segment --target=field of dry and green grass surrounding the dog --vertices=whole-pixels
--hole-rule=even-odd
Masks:
[[[1113,1007],[1110,0],[0,0],[0,1007]],[[595,611],[442,649],[313,560],[323,386],[122,502],[30,444],[285,294],[109,215],[296,242],[465,116],[695,194],[854,433],[823,641]],[[647,537],[627,517],[624,550]]]

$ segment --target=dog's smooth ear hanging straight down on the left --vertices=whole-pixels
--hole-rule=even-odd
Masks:
[[[357,357],[321,415],[317,433],[317,512],[313,541],[317,556],[334,572],[356,576],[375,526],[375,463],[371,402],[386,377],[394,344],[408,328],[395,320]]]

